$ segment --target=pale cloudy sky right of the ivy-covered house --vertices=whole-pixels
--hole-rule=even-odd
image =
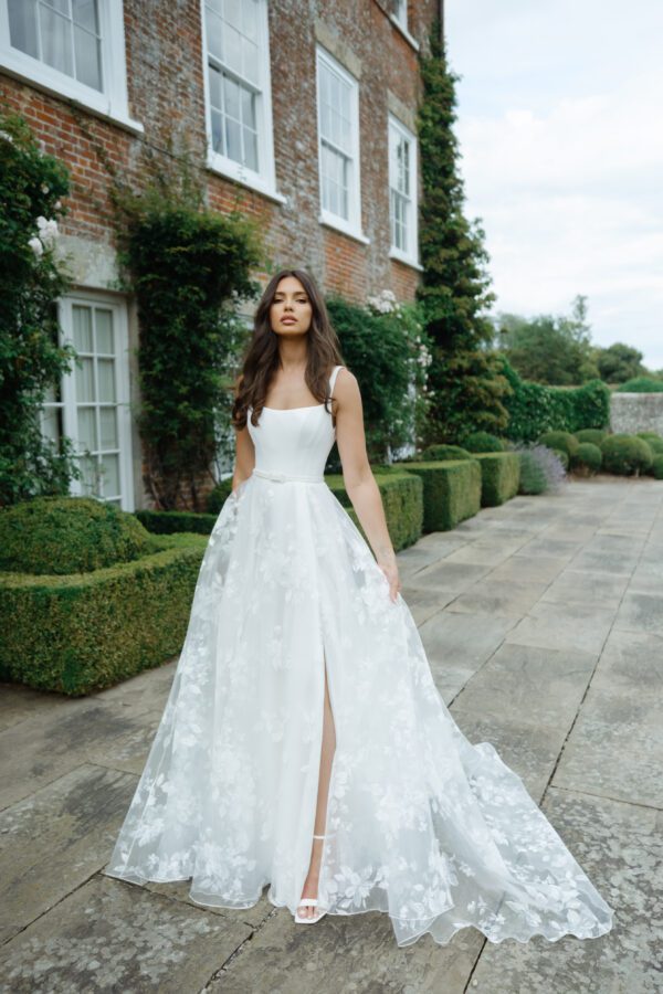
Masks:
[[[663,369],[663,0],[446,0],[493,314],[569,314]]]

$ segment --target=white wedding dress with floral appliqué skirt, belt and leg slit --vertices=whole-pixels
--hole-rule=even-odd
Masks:
[[[329,392],[338,370],[329,380]],[[223,505],[170,695],[105,873],[191,879],[218,908],[295,912],[311,860],[324,667],[334,715],[318,887],[329,914],[379,910],[398,945],[592,938],[612,910],[522,780],[472,745],[410,611],[323,478],[324,404],[249,422],[255,468]],[[324,928],[324,926],[320,926]]]

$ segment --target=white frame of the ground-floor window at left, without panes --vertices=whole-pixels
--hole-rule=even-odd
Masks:
[[[76,304],[84,307],[104,307],[113,311],[115,353],[117,357],[116,404],[120,507],[123,510],[133,511],[135,509],[135,498],[129,394],[129,328],[126,302],[118,300],[117,297],[109,295],[86,293],[84,290],[73,292],[61,297],[57,300],[57,321],[60,325],[60,339],[63,343],[74,343],[72,309]],[[61,408],[63,433],[72,440],[75,451],[78,452],[75,374],[76,366],[73,362],[72,371],[65,373],[61,380]],[[72,480],[71,493],[75,496],[86,494],[83,482],[80,479]],[[101,499],[103,500],[103,498]]]

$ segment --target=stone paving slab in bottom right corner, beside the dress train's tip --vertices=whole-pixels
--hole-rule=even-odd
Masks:
[[[615,911],[608,935],[486,943],[469,992],[660,994],[663,935],[661,815],[550,789],[546,816]]]

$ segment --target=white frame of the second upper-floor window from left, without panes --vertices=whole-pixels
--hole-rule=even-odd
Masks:
[[[260,93],[256,94],[257,161],[261,169],[256,172],[242,162],[235,162],[228,156],[214,151],[212,145],[212,115],[210,84],[208,76],[208,41],[204,15],[206,0],[200,0],[200,31],[202,39],[202,78],[204,88],[204,121],[207,136],[207,165],[212,172],[228,177],[244,187],[256,190],[276,203],[286,203],[286,198],[276,189],[276,170],[274,163],[274,135],[272,127],[272,73],[270,67],[270,25],[267,18],[267,0],[259,0],[259,44],[261,57],[259,65]]]

